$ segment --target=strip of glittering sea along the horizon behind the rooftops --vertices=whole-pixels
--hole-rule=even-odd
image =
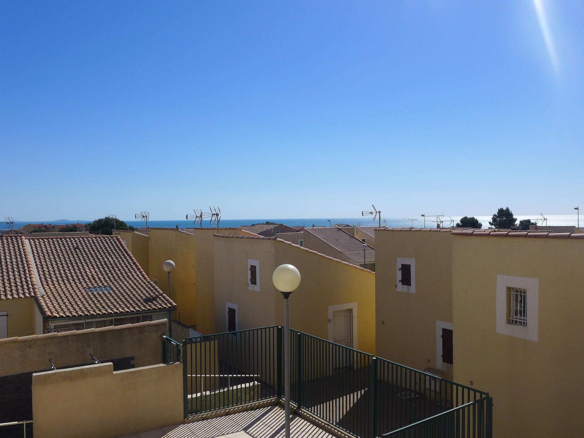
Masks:
[[[475,216],[479,222],[482,223],[483,228],[489,227],[489,220],[491,216]],[[454,227],[456,223],[460,220],[460,216],[443,216],[438,218],[438,220],[443,221],[442,227]],[[516,216],[517,223],[523,219],[531,219],[532,221],[538,221],[540,225],[571,225],[576,226],[577,217],[575,214],[565,214],[565,215],[550,215],[547,216],[547,224],[538,215],[519,215]],[[385,227],[414,227],[414,228],[436,228],[437,218],[423,217],[416,218],[382,218],[381,225]],[[67,220],[60,219],[54,221],[15,221],[14,227],[19,228],[26,224],[72,224],[72,223],[89,223],[92,220]],[[221,219],[220,227],[239,227],[240,225],[251,225],[265,223],[267,221],[274,222],[277,224],[284,224],[290,227],[295,225],[303,225],[304,227],[328,227],[329,225],[335,224],[349,224],[349,225],[359,225],[360,227],[372,227],[379,225],[379,221],[371,220],[371,217],[337,217],[337,218],[296,218],[296,219],[282,219],[282,218],[258,218],[258,219]],[[133,227],[144,227],[144,221],[137,220],[127,220],[126,224],[132,225]],[[584,226],[584,217],[582,219],[582,224]],[[193,221],[186,220],[149,220],[149,227],[172,227],[175,228],[178,225],[179,228],[193,228],[199,227],[199,224],[194,225]],[[203,221],[203,227],[216,227],[217,224],[211,224],[208,220]],[[0,225],[2,227],[2,225]]]

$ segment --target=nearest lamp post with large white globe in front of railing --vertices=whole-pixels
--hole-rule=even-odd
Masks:
[[[284,406],[286,408],[286,438],[290,438],[290,314],[288,298],[300,284],[300,272],[296,266],[280,265],[272,275],[276,289],[284,296]]]

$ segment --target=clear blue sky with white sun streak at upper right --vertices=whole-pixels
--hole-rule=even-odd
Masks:
[[[571,0],[2,2],[0,216],[572,214],[583,22]]]

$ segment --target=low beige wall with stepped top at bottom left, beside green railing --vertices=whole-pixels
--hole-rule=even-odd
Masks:
[[[33,374],[36,438],[114,438],[183,422],[182,364]]]

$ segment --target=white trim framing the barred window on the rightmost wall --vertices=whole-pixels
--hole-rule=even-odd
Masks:
[[[527,325],[507,324],[507,287],[527,290]],[[529,277],[497,276],[497,333],[538,342],[540,280]]]

